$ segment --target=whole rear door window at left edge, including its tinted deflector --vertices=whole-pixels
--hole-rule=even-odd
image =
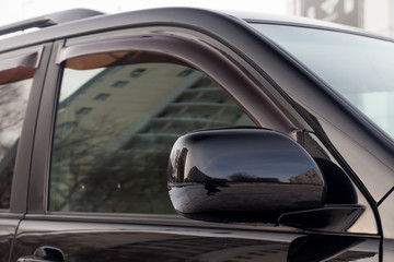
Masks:
[[[16,151],[37,52],[0,58],[0,209],[10,207]]]

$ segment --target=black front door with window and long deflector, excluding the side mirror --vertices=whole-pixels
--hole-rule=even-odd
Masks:
[[[374,214],[350,181],[366,212],[329,236],[175,214],[166,169],[183,133],[257,126],[302,139],[302,119],[224,44],[144,27],[59,40],[54,50],[11,261],[379,261]]]

